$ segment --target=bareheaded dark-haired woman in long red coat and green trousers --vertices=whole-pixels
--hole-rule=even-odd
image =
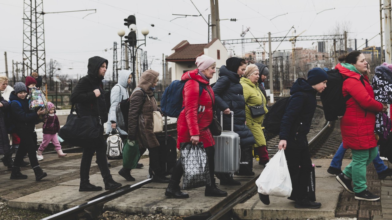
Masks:
[[[352,96],[346,102],[346,112],[341,118],[344,148],[352,151],[352,161],[336,179],[354,194],[358,200],[376,201],[379,196],[368,191],[366,166],[377,156],[377,140],[374,136],[376,113],[387,110],[387,105],[374,99],[374,92],[368,78],[367,61],[359,51],[339,56],[336,69],[346,78],[343,82],[343,96]],[[354,187],[351,186],[353,182]]]

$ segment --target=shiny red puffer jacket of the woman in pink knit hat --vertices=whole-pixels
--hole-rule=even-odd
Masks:
[[[180,112],[177,120],[177,148],[180,148],[180,143],[190,142],[191,136],[194,135],[199,135],[199,142],[203,142],[204,148],[215,144],[214,137],[208,128],[212,122],[214,92],[209,81],[203,79],[198,72],[199,70],[195,69],[185,72],[181,76],[181,80],[188,81],[182,92],[184,109]],[[200,96],[199,83],[205,85]],[[211,93],[211,96],[206,89]],[[199,106],[205,106],[203,112],[198,112]]]

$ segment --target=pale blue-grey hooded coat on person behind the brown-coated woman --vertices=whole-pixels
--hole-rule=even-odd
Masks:
[[[123,99],[128,99],[128,78],[131,74],[129,70],[120,70],[118,72],[118,83],[113,86],[110,92],[110,109],[109,109],[109,120],[106,123],[106,133],[109,134],[112,131],[112,123],[116,123],[116,107]],[[118,132],[122,135],[126,135],[127,131],[121,130],[116,126]]]

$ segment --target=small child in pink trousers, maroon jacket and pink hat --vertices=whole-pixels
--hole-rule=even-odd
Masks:
[[[47,121],[45,121],[44,125],[42,126],[42,144],[40,145],[40,148],[38,148],[37,154],[42,156],[42,152],[48,146],[49,142],[52,141],[54,145],[54,150],[57,151],[58,157],[65,157],[67,156],[67,154],[63,153],[63,150],[61,150],[61,145],[57,138],[57,132],[60,130],[60,122],[58,121],[58,117],[55,114],[56,109],[53,103],[48,102],[48,109],[49,114]]]

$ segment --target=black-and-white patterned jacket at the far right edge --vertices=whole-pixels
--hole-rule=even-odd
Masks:
[[[392,104],[392,71],[388,67],[381,65],[376,67],[374,77],[372,79],[372,87],[374,91],[374,99],[381,103]],[[375,132],[384,132],[383,114],[376,114]]]

